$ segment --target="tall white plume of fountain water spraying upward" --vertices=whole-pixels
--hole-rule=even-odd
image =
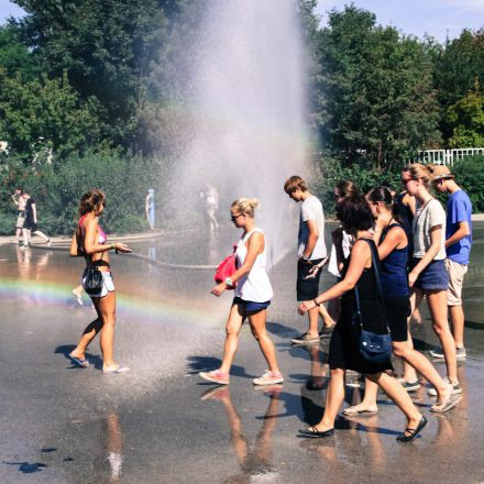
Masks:
[[[206,184],[219,191],[223,220],[233,199],[258,198],[257,224],[275,264],[296,238],[288,227],[284,182],[307,173],[305,50],[297,2],[206,4],[197,41],[188,48],[190,128],[176,177],[178,197],[185,200],[179,209],[196,206]]]

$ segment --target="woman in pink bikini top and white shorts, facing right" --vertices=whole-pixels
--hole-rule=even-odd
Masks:
[[[86,261],[86,270],[81,278],[82,286],[86,282],[87,271],[95,265],[102,274],[102,288],[99,293],[90,295],[98,318],[84,330],[79,343],[69,353],[69,358],[78,366],[89,366],[86,359],[86,349],[100,331],[102,372],[122,373],[129,371],[129,369],[120,365],[113,359],[116,293],[109,251],[131,252],[131,249],[121,242],[107,243],[106,234],[99,226],[99,217],[102,215],[105,207],[106,196],[101,190],[89,190],[80,199],[79,221],[70,244],[70,256],[84,256]]]

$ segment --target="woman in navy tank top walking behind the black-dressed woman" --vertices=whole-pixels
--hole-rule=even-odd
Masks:
[[[393,351],[416,369],[438,393],[432,411],[448,411],[457,404],[451,398],[451,388],[433,365],[421,353],[408,344],[408,323],[410,316],[409,288],[407,284],[408,240],[400,223],[391,191],[386,187],[374,188],[366,195],[366,200],[376,220],[374,241],[378,244],[381,258],[381,279],[385,300],[386,316],[391,329]],[[404,382],[405,387],[405,382]],[[348,407],[344,415],[367,415],[377,411],[376,394],[378,386],[371,380],[365,382],[364,398],[361,404]]]

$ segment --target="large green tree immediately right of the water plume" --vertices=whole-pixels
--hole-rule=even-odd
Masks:
[[[376,25],[354,6],[330,12],[318,40],[316,119],[322,143],[351,164],[378,170],[439,142],[439,110],[427,45]]]

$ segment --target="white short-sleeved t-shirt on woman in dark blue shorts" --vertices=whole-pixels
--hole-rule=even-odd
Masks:
[[[414,217],[414,257],[421,258],[431,245],[430,229],[441,226],[440,250],[433,257],[435,261],[446,258],[446,210],[439,200],[432,198],[426,205],[417,202],[417,211]]]

